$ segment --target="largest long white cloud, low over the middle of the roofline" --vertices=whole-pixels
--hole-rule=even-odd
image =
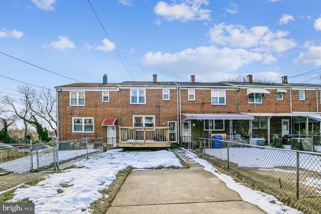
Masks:
[[[148,52],[141,59],[142,66],[162,75],[183,77],[187,74],[217,78],[222,72],[235,71],[255,61],[273,61],[270,56],[249,52],[244,49],[219,49],[215,46],[186,49],[178,53]]]

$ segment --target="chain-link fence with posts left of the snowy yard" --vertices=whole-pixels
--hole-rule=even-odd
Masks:
[[[0,144],[0,194],[106,150],[103,138],[24,145]]]

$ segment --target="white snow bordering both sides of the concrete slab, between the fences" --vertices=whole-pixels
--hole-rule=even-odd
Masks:
[[[198,158],[189,151],[186,152],[189,157],[203,165],[205,170],[213,173],[229,188],[237,191],[243,200],[259,206],[267,213],[302,213],[283,205],[274,196],[236,183],[233,178],[219,173],[206,160]],[[75,165],[83,168],[71,168],[63,170],[62,173],[49,174],[36,186],[18,188],[10,202],[29,198],[35,203],[36,213],[90,213],[88,209],[90,203],[102,197],[98,191],[108,187],[116,178],[117,172],[128,165],[144,169],[159,165],[181,166],[181,163],[170,151],[121,152],[120,149],[114,149],[84,159]],[[61,187],[61,184],[68,184],[69,187]],[[58,189],[62,189],[63,192],[57,193]],[[276,203],[271,203],[272,200]]]

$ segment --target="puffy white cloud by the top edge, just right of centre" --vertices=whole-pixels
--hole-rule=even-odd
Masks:
[[[168,5],[158,2],[154,7],[154,13],[168,21],[181,20],[188,22],[193,20],[211,20],[212,11],[202,9],[202,5],[209,5],[208,0],[184,0],[181,4]]]

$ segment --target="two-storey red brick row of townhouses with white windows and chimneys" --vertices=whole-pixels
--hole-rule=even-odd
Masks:
[[[168,127],[169,142],[182,136],[249,138],[319,130],[318,84],[253,82],[125,81],[72,83],[55,87],[59,141],[103,137],[119,141],[118,129]],[[141,128],[142,129],[142,128]],[[138,130],[138,129],[136,129]],[[151,130],[151,129],[149,129]],[[153,129],[155,130],[155,129]]]

